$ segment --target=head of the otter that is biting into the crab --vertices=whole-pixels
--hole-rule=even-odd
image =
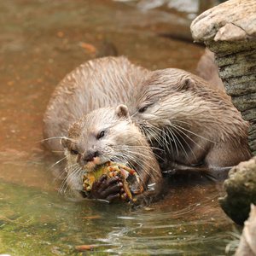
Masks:
[[[75,122],[61,139],[69,165],[94,168],[117,160],[127,143],[131,118],[128,108],[99,108]]]

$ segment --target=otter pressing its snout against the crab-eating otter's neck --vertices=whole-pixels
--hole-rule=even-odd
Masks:
[[[252,155],[249,124],[230,96],[192,73],[176,68],[148,73],[127,105],[148,142],[165,149],[162,169],[225,169]]]

